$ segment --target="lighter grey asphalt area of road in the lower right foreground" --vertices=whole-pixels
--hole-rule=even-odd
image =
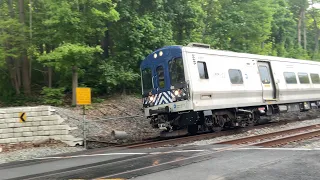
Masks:
[[[246,149],[136,180],[319,180],[319,150]]]

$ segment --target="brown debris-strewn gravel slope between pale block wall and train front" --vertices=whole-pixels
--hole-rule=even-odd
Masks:
[[[53,107],[55,113],[65,119],[65,123],[77,129],[71,134],[83,137],[83,115],[81,107]],[[121,118],[119,118],[121,117]],[[126,118],[123,118],[126,117]],[[108,143],[122,143],[111,137],[111,132],[125,131],[128,139],[125,142],[140,141],[145,138],[157,137],[160,130],[153,129],[150,120],[144,117],[141,100],[131,96],[120,96],[106,100],[101,104],[93,104],[86,112],[87,140]]]

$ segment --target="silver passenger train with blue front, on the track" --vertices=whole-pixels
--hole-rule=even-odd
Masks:
[[[141,63],[145,116],[153,128],[219,131],[320,105],[320,63],[211,49],[190,43]]]

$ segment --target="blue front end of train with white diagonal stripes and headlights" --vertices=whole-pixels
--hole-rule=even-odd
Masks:
[[[156,50],[140,68],[143,107],[149,116],[169,113],[169,104],[188,99],[181,46]]]

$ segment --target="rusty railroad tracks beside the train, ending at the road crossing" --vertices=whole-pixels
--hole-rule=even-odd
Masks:
[[[286,124],[284,122],[280,124]],[[242,129],[241,132],[249,131],[252,129],[261,129],[265,127],[270,127],[274,124],[267,124],[267,125],[262,125],[259,127],[250,127],[250,128],[245,128]],[[279,123],[277,123],[279,125]],[[310,132],[310,130],[315,130],[315,132]],[[240,138],[240,139],[235,139],[235,140],[229,140],[229,141],[223,141],[219,142],[216,144],[249,144],[251,143],[252,145],[257,145],[257,146],[264,146],[264,147],[269,147],[269,146],[274,146],[277,143],[278,144],[283,144],[284,142],[292,142],[292,141],[297,141],[297,140],[303,140],[307,139],[308,137],[316,137],[319,135],[320,131],[320,124],[317,125],[312,125],[312,126],[306,126],[306,127],[301,127],[301,128],[295,128],[295,129],[289,129],[285,131],[279,131],[279,132],[273,132],[273,133],[268,133],[268,134],[263,134],[263,135],[258,135],[258,136],[251,136],[251,137],[245,137],[245,138]],[[305,132],[305,134],[304,134]],[[302,134],[298,134],[302,133]],[[308,134],[309,133],[309,134]],[[137,149],[137,148],[155,148],[155,147],[161,147],[161,146],[174,146],[174,145],[180,145],[180,144],[185,144],[189,142],[194,142],[194,141],[199,141],[199,140],[206,140],[206,139],[212,139],[216,137],[222,137],[222,136],[228,136],[228,135],[236,135],[240,134],[240,132],[237,133],[237,130],[233,131],[221,131],[221,132],[215,132],[215,133],[207,133],[207,134],[199,134],[195,136],[185,136],[185,137],[179,137],[179,138],[172,138],[172,139],[166,139],[166,140],[157,140],[157,141],[148,141],[148,142],[142,142],[142,143],[135,143],[135,144],[129,144],[129,145],[119,145],[116,147],[125,147],[125,148],[130,148],[130,149]],[[288,135],[292,135],[292,137],[287,137]],[[299,135],[299,136],[298,136]],[[279,139],[279,137],[286,138],[284,140]],[[271,139],[278,138],[278,141],[274,142],[272,144]],[[265,144],[262,144],[262,141],[270,141],[270,142],[265,142]]]

